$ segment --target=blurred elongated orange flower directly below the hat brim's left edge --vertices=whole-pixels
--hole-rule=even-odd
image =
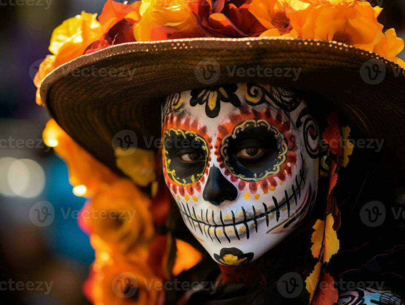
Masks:
[[[42,137],[47,146],[53,147],[69,170],[69,182],[72,186],[82,186],[83,195],[92,196],[107,183],[112,183],[117,176],[105,165],[96,160],[80,147],[50,119]]]

